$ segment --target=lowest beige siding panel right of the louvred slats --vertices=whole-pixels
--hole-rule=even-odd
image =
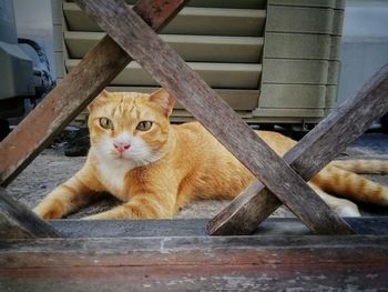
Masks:
[[[262,84],[259,108],[321,109],[325,108],[326,87],[299,84]]]

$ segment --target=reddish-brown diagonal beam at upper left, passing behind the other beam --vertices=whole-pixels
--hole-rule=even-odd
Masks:
[[[133,9],[153,29],[161,29],[185,2],[141,0]],[[130,61],[120,46],[105,36],[0,143],[0,184],[8,185]]]

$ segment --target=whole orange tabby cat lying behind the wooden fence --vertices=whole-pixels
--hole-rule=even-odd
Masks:
[[[91,149],[85,164],[34,211],[43,219],[61,218],[110,192],[123,204],[86,219],[162,219],[193,199],[239,194],[254,177],[200,123],[171,125],[173,104],[163,89],[152,94],[103,91],[89,105]],[[296,143],[276,132],[257,134],[282,155]],[[309,184],[340,215],[359,215],[355,203],[325,191],[388,205],[387,188],[350,172],[368,167],[388,171],[382,162],[337,161]]]

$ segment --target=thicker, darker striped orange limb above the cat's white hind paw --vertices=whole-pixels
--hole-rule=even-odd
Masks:
[[[316,174],[312,182],[325,192],[343,198],[388,207],[388,188],[331,163]]]

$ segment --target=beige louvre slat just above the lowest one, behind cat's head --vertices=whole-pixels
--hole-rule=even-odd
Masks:
[[[65,60],[68,70],[79,60]],[[227,89],[257,89],[262,74],[261,64],[244,63],[187,63],[211,87]],[[129,64],[112,82],[113,85],[159,85],[152,77],[135,62]]]

